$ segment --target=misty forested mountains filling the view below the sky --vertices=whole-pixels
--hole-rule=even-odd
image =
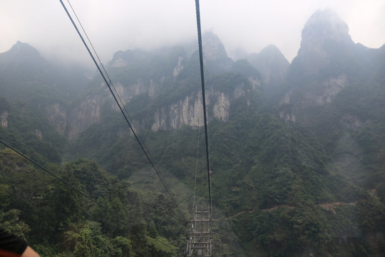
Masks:
[[[203,39],[214,256],[383,254],[384,46],[354,44],[330,10],[307,21],[289,66],[274,46],[233,61]],[[46,256],[178,256],[188,226],[101,78],[79,74],[73,99],[61,85],[75,82],[25,48],[0,55],[1,140],[105,208],[1,148],[1,226]],[[189,219],[194,191],[207,204],[197,52],[118,51],[106,69]]]

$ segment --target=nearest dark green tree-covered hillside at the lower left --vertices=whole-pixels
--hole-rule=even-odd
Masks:
[[[168,223],[172,206],[162,195],[156,203],[141,201],[127,183],[85,159],[49,167],[97,199],[96,205],[11,150],[1,150],[0,157],[0,225],[26,238],[41,255],[175,256],[173,242],[179,237],[170,229],[182,225]],[[149,215],[143,207],[149,204],[162,207]]]

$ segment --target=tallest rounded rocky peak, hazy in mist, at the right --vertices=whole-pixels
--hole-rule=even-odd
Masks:
[[[332,103],[351,81],[361,81],[370,72],[371,50],[354,44],[347,24],[334,11],[316,11],[302,30],[301,47],[286,76],[287,91],[279,100],[279,105],[292,106],[279,115],[295,121],[293,117],[309,106]]]

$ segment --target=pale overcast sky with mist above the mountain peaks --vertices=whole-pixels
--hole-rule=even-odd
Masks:
[[[67,0],[63,0],[68,6]],[[103,62],[127,49],[151,49],[197,35],[195,0],[71,0]],[[332,8],[356,43],[385,44],[384,0],[200,0],[202,31],[220,37],[227,54],[276,45],[292,61],[302,28],[317,9]],[[196,39],[195,39],[196,40]],[[92,64],[58,0],[0,0],[0,52],[16,41],[43,56]]]

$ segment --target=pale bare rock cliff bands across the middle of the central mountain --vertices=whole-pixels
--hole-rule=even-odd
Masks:
[[[260,81],[250,78],[252,88],[260,86]],[[143,80],[138,79],[135,84],[124,86],[121,83],[115,85],[123,104],[128,103],[134,96],[140,94],[148,94],[150,99],[155,97],[155,91],[158,91],[158,83],[152,79],[150,83],[144,84]],[[105,86],[101,84],[101,86]],[[105,86],[106,87],[106,86]],[[241,83],[234,87],[230,92],[217,91],[209,89],[206,92],[206,105],[209,112],[209,120],[217,119],[227,121],[230,114],[230,105],[232,101],[245,96],[250,89],[245,89],[245,84]],[[69,139],[77,138],[78,135],[92,124],[102,121],[101,110],[105,106],[110,106],[113,110],[119,111],[116,102],[113,100],[109,89],[103,89],[101,94],[86,96],[75,107],[68,110],[61,104],[52,104],[46,106],[46,115],[56,130],[61,135],[67,136]],[[202,91],[185,96],[173,103],[160,106],[153,112],[153,119],[142,117],[137,118],[139,127],[148,126],[152,131],[179,129],[182,126],[198,127],[203,125],[202,112]],[[1,124],[6,126],[6,116],[1,116]],[[143,125],[145,124],[145,125]]]

